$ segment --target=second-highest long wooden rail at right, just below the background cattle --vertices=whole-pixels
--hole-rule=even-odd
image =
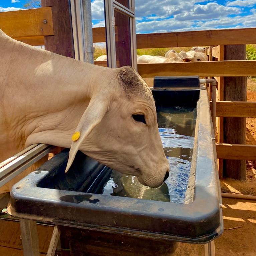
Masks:
[[[138,72],[142,77],[172,75],[255,76],[256,60],[138,64]]]

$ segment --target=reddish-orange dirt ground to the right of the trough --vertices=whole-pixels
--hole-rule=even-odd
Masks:
[[[256,101],[256,79],[247,79],[247,101]],[[246,144],[256,145],[256,118],[246,118]],[[246,181],[221,180],[224,193],[256,195],[256,161],[246,161]],[[216,256],[256,256],[256,201],[222,198],[224,233]],[[203,245],[179,244],[175,256],[204,255]]]

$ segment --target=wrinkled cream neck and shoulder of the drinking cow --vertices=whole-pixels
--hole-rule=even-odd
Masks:
[[[1,30],[0,56],[0,162],[39,141],[70,147],[90,98],[103,97],[116,72],[17,42]]]

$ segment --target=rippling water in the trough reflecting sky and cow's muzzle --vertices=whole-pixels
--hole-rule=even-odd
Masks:
[[[195,108],[157,108],[159,133],[170,176],[157,189],[139,183],[137,177],[112,171],[102,194],[145,200],[183,203],[190,174],[196,122]]]

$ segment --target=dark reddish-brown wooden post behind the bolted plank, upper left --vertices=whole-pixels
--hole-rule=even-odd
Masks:
[[[45,50],[74,58],[69,0],[41,0],[42,7],[52,7],[53,36],[44,37]]]

